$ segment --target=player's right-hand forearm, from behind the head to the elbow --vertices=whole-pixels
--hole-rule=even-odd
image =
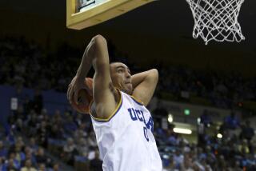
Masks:
[[[152,79],[158,82],[158,70],[152,69],[147,70],[142,73],[134,74],[131,76],[131,82],[134,87],[134,89],[142,82],[144,82],[146,79]]]

